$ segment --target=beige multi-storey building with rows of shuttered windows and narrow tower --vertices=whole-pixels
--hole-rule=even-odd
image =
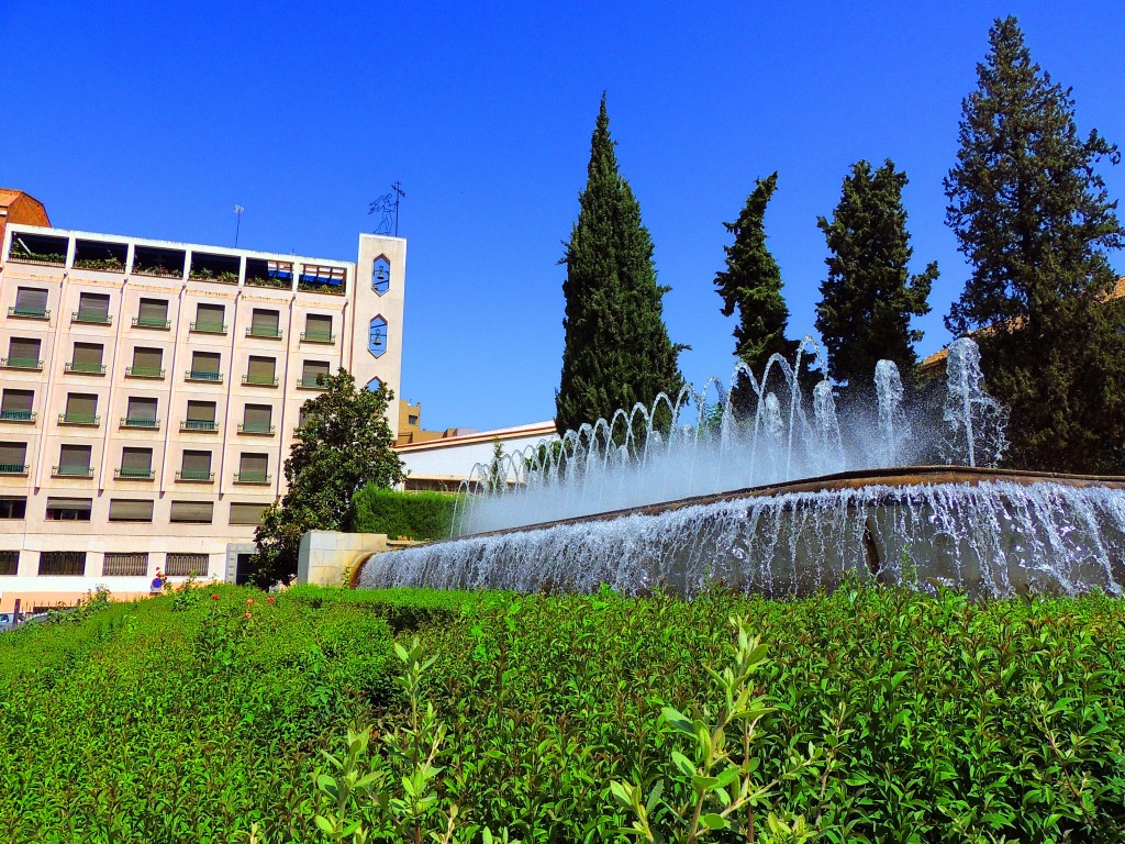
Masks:
[[[405,266],[370,234],[336,261],[9,223],[0,610],[241,580],[317,376],[398,390]]]

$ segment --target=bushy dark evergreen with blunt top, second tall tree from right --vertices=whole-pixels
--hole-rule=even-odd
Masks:
[[[910,318],[929,313],[937,263],[910,275],[906,185],[907,174],[890,159],[878,170],[858,161],[844,178],[831,222],[817,218],[829,252],[817,331],[828,350],[829,375],[853,394],[866,392],[879,360],[893,360],[908,383],[918,361],[914,344],[922,333],[910,327]]]

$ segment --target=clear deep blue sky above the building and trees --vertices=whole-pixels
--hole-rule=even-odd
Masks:
[[[1080,131],[1125,144],[1125,3],[375,3],[0,0],[0,185],[63,227],[353,260],[400,180],[410,241],[400,395],[426,428],[554,414],[561,242],[603,90],[656,243],[665,318],[702,384],[732,365],[712,279],[756,177],[790,331],[812,331],[848,167],[904,169],[919,350],[966,268],[942,178],[996,16],[1074,89]],[[1102,168],[1125,197],[1125,165]],[[1113,258],[1125,270],[1122,255]]]

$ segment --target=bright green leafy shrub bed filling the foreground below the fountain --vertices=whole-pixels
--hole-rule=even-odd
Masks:
[[[0,841],[1117,841],[1123,695],[1101,596],[196,590],[0,636]]]

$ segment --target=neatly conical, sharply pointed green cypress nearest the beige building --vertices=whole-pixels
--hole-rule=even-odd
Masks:
[[[669,288],[656,282],[652,239],[618,172],[614,146],[603,95],[578,221],[560,261],[567,268],[566,347],[555,395],[560,433],[637,402],[650,405],[683,385],[676,359],[685,347],[672,343],[662,315]]]

